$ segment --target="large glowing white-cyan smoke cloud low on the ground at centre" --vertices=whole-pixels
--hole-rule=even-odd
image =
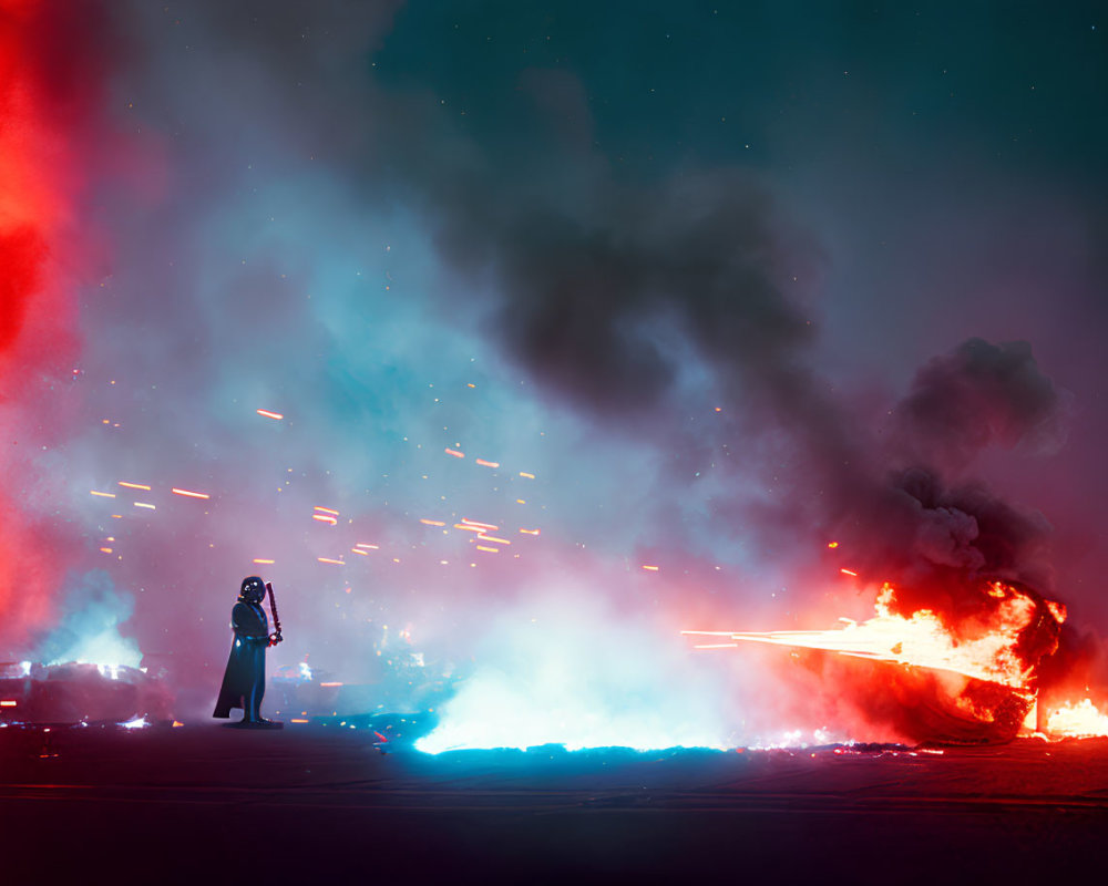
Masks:
[[[616,612],[584,587],[547,590],[491,626],[481,664],[420,750],[726,748],[735,711],[722,673],[676,630]]]

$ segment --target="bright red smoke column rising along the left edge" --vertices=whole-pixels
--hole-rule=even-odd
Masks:
[[[100,25],[91,2],[0,0],[0,631],[41,624],[61,579],[49,527],[22,503],[32,454],[53,442],[50,391],[78,352],[78,199],[95,141]]]

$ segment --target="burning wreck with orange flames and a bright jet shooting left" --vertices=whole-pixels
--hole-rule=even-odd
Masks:
[[[875,609],[833,630],[683,632],[710,638],[699,649],[786,647],[866,720],[911,742],[1001,743],[1045,730],[1039,670],[1058,649],[1064,606],[1020,583],[982,578],[953,614],[902,611],[890,584]]]

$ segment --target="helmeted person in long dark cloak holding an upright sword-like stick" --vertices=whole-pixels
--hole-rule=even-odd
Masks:
[[[230,610],[235,640],[230,645],[227,670],[212,715],[228,718],[232,708],[242,708],[243,719],[233,725],[280,729],[281,723],[261,715],[261,697],[266,692],[266,649],[281,640],[279,635],[269,633],[269,621],[261,608],[265,596],[266,583],[258,576],[243,579],[238,601]]]

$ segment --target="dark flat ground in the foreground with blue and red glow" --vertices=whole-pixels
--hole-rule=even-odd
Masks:
[[[0,882],[1050,883],[1108,861],[1108,741],[437,758],[371,741],[0,729]]]

